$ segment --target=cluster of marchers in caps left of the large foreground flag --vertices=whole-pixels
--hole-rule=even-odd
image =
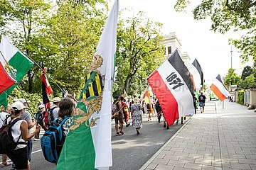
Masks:
[[[11,163],[7,162],[7,157],[11,159],[11,170],[13,169],[30,169],[31,152],[33,141],[39,140],[39,132],[41,128],[48,130],[53,121],[61,122],[64,118],[63,133],[67,135],[70,124],[72,123],[71,116],[75,113],[75,101],[73,98],[53,98],[48,111],[43,104],[39,104],[38,112],[34,118],[29,111],[27,111],[28,103],[25,98],[15,99],[14,103],[9,105],[6,109],[1,106],[0,113],[0,142],[2,146],[0,152],[2,154],[1,164],[9,166]],[[36,127],[36,128],[33,128]],[[34,129],[33,132],[31,129]],[[7,133],[5,134],[4,131]],[[7,139],[7,140],[6,140]]]

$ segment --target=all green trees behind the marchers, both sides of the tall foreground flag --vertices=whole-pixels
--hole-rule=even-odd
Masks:
[[[97,8],[97,4],[102,5]],[[21,89],[41,93],[43,65],[54,96],[60,96],[61,90],[52,79],[70,94],[80,94],[107,18],[107,1],[14,0],[1,1],[0,8],[2,34],[38,64],[24,77]],[[119,17],[114,94],[124,89],[127,94],[139,94],[146,77],[165,60],[161,26],[143,12],[125,20]]]

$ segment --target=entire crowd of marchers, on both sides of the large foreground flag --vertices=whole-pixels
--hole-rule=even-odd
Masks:
[[[206,96],[201,93],[195,100],[196,103],[199,103],[201,113],[203,113]],[[147,103],[144,98],[141,99],[137,96],[133,96],[132,98],[124,98],[124,96],[114,97],[114,101],[112,102],[112,120],[114,120],[114,128],[117,136],[125,135],[124,125],[125,127],[129,127],[131,123],[134,132],[139,135],[143,127],[142,115],[146,117],[147,114],[147,121],[151,121],[151,116],[154,116],[156,121],[161,123],[161,118],[164,118],[164,114],[159,101],[157,98],[150,96],[149,102]],[[11,169],[30,169],[33,147],[31,139],[34,137],[34,140],[40,140],[39,132],[41,128],[47,131],[54,122],[60,123],[65,138],[69,132],[71,123],[73,123],[72,116],[75,115],[75,107],[77,105],[72,96],[62,99],[55,97],[48,109],[45,108],[45,105],[39,103],[38,112],[34,118],[27,110],[28,103],[29,101],[25,98],[19,98],[6,109],[1,106],[0,128],[1,130],[9,128],[15,146],[10,152],[2,155],[1,164],[9,166],[10,162],[7,162],[7,157],[9,157],[13,162]],[[64,120],[65,122],[63,122]],[[186,117],[181,118],[181,124],[183,124],[183,120],[186,120]],[[163,121],[164,128],[169,129],[165,118]],[[178,123],[178,120],[176,123]],[[33,132],[31,130],[32,128],[34,129]],[[61,147],[59,150],[61,150]]]

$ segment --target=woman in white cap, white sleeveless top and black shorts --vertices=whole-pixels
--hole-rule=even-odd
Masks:
[[[28,135],[28,123],[26,120],[21,119],[21,114],[26,108],[23,103],[16,101],[11,105],[11,118],[8,118],[7,122],[11,126],[11,136],[16,142],[16,148],[9,152],[7,156],[14,162],[16,169],[30,169],[28,163],[27,145],[26,141],[30,140],[38,131],[40,131],[40,126],[36,126],[36,130]]]

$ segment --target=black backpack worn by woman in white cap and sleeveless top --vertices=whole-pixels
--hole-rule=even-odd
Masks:
[[[14,151],[17,145],[26,145],[26,142],[14,142],[14,137],[11,135],[11,127],[22,120],[21,118],[16,118],[12,123],[7,124],[7,118],[4,125],[0,128],[0,154],[9,154]],[[20,140],[21,135],[18,137]]]

